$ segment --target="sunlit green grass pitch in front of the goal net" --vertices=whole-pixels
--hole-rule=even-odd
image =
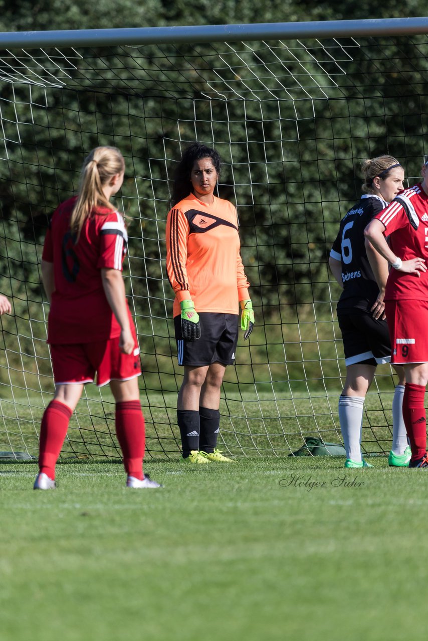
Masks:
[[[409,638],[426,473],[370,461],[148,462],[160,490],[69,462],[49,492],[31,489],[35,463],[0,463],[0,638]]]

